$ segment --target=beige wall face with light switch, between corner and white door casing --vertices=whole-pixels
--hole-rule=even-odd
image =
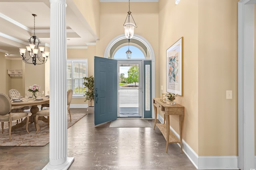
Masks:
[[[198,3],[200,156],[238,155],[237,2]],[[226,90],[232,90],[231,100],[226,99]]]

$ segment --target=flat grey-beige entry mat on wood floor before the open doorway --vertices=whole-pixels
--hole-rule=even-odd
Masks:
[[[109,127],[151,127],[146,119],[116,119]]]

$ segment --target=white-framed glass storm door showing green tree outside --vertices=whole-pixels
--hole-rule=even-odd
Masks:
[[[142,61],[118,61],[118,117],[142,117]]]

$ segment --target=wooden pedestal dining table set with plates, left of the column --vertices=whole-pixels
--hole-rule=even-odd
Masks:
[[[35,117],[36,117],[36,113],[39,111],[38,105],[42,105],[42,104],[49,104],[50,102],[50,98],[49,97],[38,97],[36,99],[33,98],[21,98],[18,101],[12,100],[12,106],[14,107],[18,107],[18,106],[31,106],[30,108],[30,113],[32,115],[29,116],[29,122],[30,123],[34,123],[35,122]],[[21,128],[24,125],[26,125],[26,119],[22,120],[20,123],[12,126],[12,131],[14,131],[15,129]],[[44,116],[40,116],[38,117],[38,120],[44,121],[44,122],[48,122],[48,119],[46,119],[46,117]]]

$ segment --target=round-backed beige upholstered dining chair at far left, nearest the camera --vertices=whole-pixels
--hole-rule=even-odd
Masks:
[[[0,122],[2,126],[2,133],[4,133],[4,122],[8,122],[9,123],[9,141],[12,140],[11,139],[12,121],[26,117],[27,132],[28,132],[28,121],[29,121],[28,113],[26,112],[12,113],[11,110],[12,110],[12,103],[10,99],[5,94],[0,93]]]

